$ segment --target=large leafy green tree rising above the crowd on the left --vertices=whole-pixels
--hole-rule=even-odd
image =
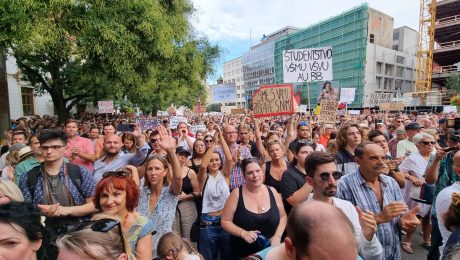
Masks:
[[[1,1],[0,48],[51,95],[60,121],[103,98],[189,104],[220,53],[191,33],[193,10],[189,0]]]

